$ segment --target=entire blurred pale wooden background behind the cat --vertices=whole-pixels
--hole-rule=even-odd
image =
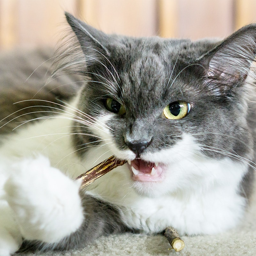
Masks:
[[[64,11],[133,36],[225,37],[256,22],[256,0],[0,0],[0,50],[56,44]]]

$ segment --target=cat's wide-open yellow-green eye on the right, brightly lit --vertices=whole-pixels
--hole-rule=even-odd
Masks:
[[[190,104],[185,101],[175,101],[164,108],[164,116],[168,119],[181,119],[190,112]]]

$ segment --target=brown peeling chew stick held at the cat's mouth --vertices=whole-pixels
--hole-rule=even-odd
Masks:
[[[89,185],[91,182],[95,181],[97,178],[108,173],[112,169],[124,165],[126,160],[119,160],[114,156],[102,161],[95,167],[91,168],[89,171],[79,175],[76,179],[82,179],[81,189]]]

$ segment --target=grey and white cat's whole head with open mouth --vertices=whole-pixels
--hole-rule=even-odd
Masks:
[[[252,159],[245,80],[256,25],[221,42],[191,42],[106,35],[66,17],[82,50],[72,53],[73,63],[87,80],[78,105],[86,125],[80,124],[77,148],[105,144],[128,160],[134,187],[147,194],[205,175],[202,167],[194,170],[197,163]]]

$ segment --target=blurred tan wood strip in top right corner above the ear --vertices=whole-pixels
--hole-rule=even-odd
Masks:
[[[256,1],[235,0],[235,28],[238,29],[250,23],[256,22]]]

